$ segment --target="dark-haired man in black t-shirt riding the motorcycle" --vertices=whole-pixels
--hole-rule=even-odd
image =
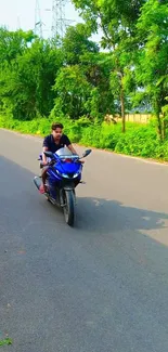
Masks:
[[[60,122],[52,123],[51,127],[52,133],[44,138],[42,152],[49,151],[55,153],[60,148],[67,146],[73,154],[78,155],[75,148],[73,147],[68,136],[63,133],[63,128],[64,128],[63,125]],[[42,165],[43,165],[42,173],[41,173],[42,183],[39,191],[40,193],[47,193],[46,181],[47,181],[47,171],[48,171],[48,158],[46,157],[44,153],[42,153]]]

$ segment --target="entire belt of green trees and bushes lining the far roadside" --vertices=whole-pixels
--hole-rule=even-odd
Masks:
[[[73,2],[85,23],[63,39],[0,28],[0,127],[44,135],[60,120],[72,142],[168,160],[167,1]]]

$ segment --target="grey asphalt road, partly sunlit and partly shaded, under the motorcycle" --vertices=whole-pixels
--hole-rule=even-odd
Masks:
[[[167,352],[168,167],[93,151],[70,229],[40,143],[0,130],[0,351]]]

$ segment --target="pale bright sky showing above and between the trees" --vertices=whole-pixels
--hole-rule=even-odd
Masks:
[[[39,0],[41,10],[41,21],[43,23],[43,37],[50,37],[52,25],[52,0]],[[35,9],[36,0],[0,0],[0,26],[7,26],[10,30],[22,28],[24,30],[35,28]],[[82,19],[78,16],[77,11],[70,1],[65,6],[65,16],[72,19],[70,24],[75,25]],[[98,36],[93,37],[99,40]]]

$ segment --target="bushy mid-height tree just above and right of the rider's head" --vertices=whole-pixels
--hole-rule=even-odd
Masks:
[[[63,39],[64,64],[80,66],[90,83],[92,92],[86,101],[90,117],[101,119],[106,109],[113,108],[113,94],[109,87],[112,63],[107,54],[100,53],[99,45],[90,40],[91,31],[85,24],[69,27]],[[57,100],[59,102],[59,100]]]

